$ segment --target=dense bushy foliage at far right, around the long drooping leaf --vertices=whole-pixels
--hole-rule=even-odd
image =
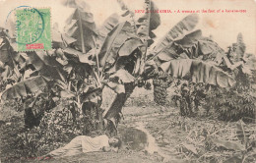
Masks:
[[[207,41],[204,48],[209,48],[213,53],[200,53],[200,41]],[[240,45],[239,45],[240,44]],[[255,57],[245,53],[245,44],[242,41],[241,33],[237,36],[237,43],[224,54],[217,43],[210,38],[199,40],[199,43],[192,47],[192,51],[186,52],[187,57],[213,62],[220,69],[231,75],[236,81],[231,88],[213,85],[211,82],[199,82],[179,80],[172,84],[176,94],[172,99],[178,104],[181,116],[195,116],[199,114],[199,106],[203,107],[206,115],[217,116],[224,121],[255,121]],[[202,47],[201,47],[202,49]],[[237,50],[240,49],[240,50]],[[182,48],[181,51],[186,50]],[[202,50],[201,50],[202,51]],[[203,57],[200,57],[202,55]],[[172,70],[173,71],[173,70]],[[159,76],[160,79],[160,76]],[[169,82],[165,78],[165,84]],[[166,97],[162,91],[155,91],[155,96]],[[156,99],[156,98],[155,98]],[[158,102],[158,101],[157,101]],[[164,102],[161,102],[161,104]]]

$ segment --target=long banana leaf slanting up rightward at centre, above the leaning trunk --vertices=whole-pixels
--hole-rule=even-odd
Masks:
[[[114,27],[108,33],[99,51],[99,66],[104,69],[110,68],[118,57],[119,48],[130,37],[136,37],[130,23],[124,22]]]

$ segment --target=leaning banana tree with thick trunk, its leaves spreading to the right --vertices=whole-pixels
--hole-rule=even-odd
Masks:
[[[130,14],[132,16],[131,11],[127,9],[123,3],[121,3],[121,5],[125,14]],[[154,10],[156,8],[156,5],[152,1],[145,1],[146,11],[149,9]],[[133,21],[134,19],[130,22]],[[132,47],[131,49],[137,47],[137,50],[134,51],[136,54],[138,54],[138,51],[140,53],[139,56],[137,55],[137,57],[132,58],[133,63],[135,63],[133,64],[133,69],[131,68],[131,65],[128,67],[129,70],[132,70],[128,71],[128,73],[133,75],[135,81],[129,84],[124,84],[125,92],[116,95],[113,103],[104,115],[105,119],[110,120],[113,128],[116,128],[120,121],[121,109],[126,99],[141,80],[156,79],[164,74],[165,77],[170,76],[187,79],[193,82],[209,83],[221,87],[230,87],[234,84],[235,81],[233,78],[222,69],[218,68],[216,64],[198,59],[201,56],[189,56],[186,53],[186,51],[189,52],[188,50],[192,49],[195,44],[198,44],[199,40],[201,40],[200,44],[203,44],[201,50],[207,50],[203,48],[204,42],[201,30],[191,32],[191,30],[196,27],[197,23],[197,15],[187,16],[176,26],[172,27],[165,36],[160,39],[160,42],[157,43],[152,51],[149,51],[149,46],[151,45],[150,42],[152,42],[152,38],[155,36],[152,29],[155,29],[160,25],[159,14],[146,12],[142,18],[134,24],[131,24],[135,25],[134,29],[136,35],[134,37],[139,38],[143,43],[143,46],[130,45],[130,47]],[[118,26],[120,26],[120,24],[118,24],[117,27]],[[122,36],[120,35],[120,37]],[[130,39],[127,39],[123,45],[127,44],[129,40]],[[116,46],[112,47],[116,49]],[[122,46],[119,46],[115,55],[119,54],[120,56],[120,52],[122,51],[121,48]],[[203,53],[207,52],[203,51]],[[210,53],[212,54],[211,51],[208,53],[208,55],[210,55]],[[196,52],[195,54],[198,55],[199,53]],[[202,56],[205,56],[205,54],[202,54]],[[124,69],[128,70],[127,67],[124,67]]]

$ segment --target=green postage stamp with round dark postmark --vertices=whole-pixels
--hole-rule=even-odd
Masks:
[[[50,8],[16,10],[16,42],[18,51],[51,49]]]

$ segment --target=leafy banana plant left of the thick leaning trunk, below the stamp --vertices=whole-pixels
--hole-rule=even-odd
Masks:
[[[30,64],[34,73],[30,78],[7,88],[1,97],[3,100],[27,97],[25,110],[30,108],[32,112],[36,94],[46,91],[48,95],[70,101],[74,119],[83,117],[87,110],[96,109],[96,121],[102,126],[102,110],[99,108],[102,88],[107,85],[117,93],[125,91],[121,83],[134,81],[129,73],[122,71],[130,64],[126,58],[135,50],[133,57],[140,53],[136,47],[130,49],[130,45],[135,43],[142,46],[143,43],[136,37],[134,27],[128,22],[116,27],[118,18],[113,16],[99,27],[98,33],[87,3],[74,0],[67,1],[65,5],[73,8],[74,12],[67,20],[63,33],[59,32],[57,24],[54,24],[54,49],[26,53],[26,63]],[[118,39],[117,35],[120,34],[123,38]],[[130,40],[125,42],[127,39]],[[122,44],[124,42],[125,44]],[[115,55],[116,49],[111,47],[114,44],[117,44],[117,48],[122,45],[121,57]],[[8,48],[9,51],[14,51],[10,43]],[[26,68],[28,65],[25,65]],[[77,111],[74,111],[74,108],[77,108]]]

